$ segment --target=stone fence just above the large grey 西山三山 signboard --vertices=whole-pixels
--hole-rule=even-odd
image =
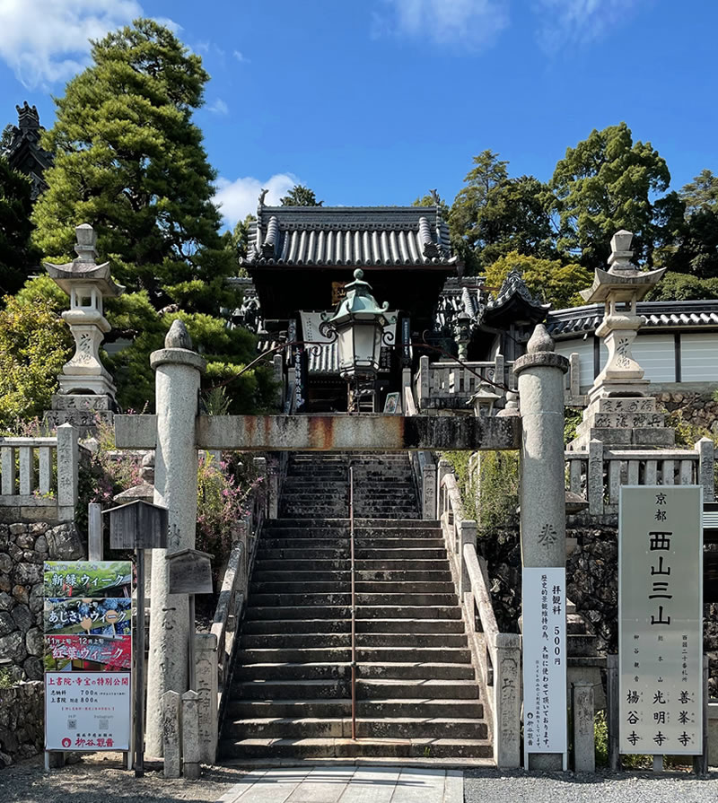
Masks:
[[[692,450],[615,450],[593,440],[588,450],[565,452],[569,490],[589,503],[590,516],[615,515],[621,485],[699,484],[704,501],[713,502],[714,459],[710,438]]]

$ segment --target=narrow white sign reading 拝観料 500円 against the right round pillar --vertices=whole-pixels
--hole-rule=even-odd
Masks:
[[[523,752],[567,760],[565,569],[523,569]]]

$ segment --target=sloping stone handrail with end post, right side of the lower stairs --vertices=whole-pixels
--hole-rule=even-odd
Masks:
[[[476,521],[463,518],[456,477],[439,463],[439,518],[451,574],[459,587],[468,644],[478,669],[489,736],[498,767],[518,767],[521,727],[521,636],[500,633],[488,587],[486,563],[477,555]]]

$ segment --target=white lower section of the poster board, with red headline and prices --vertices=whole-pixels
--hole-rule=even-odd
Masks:
[[[129,750],[129,672],[46,672],[46,750]]]

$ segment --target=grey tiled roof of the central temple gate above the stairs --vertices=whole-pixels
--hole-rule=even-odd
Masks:
[[[259,206],[250,266],[453,264],[436,206]]]

